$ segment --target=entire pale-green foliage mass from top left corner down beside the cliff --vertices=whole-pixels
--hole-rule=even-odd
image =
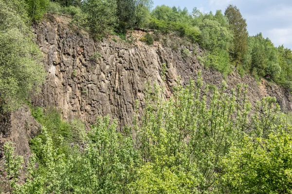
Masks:
[[[37,91],[45,71],[24,2],[0,0],[0,6],[0,101],[4,110],[14,111]]]

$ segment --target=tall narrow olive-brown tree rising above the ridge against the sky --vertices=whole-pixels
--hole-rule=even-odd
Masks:
[[[241,64],[248,49],[248,32],[246,30],[246,20],[243,19],[239,9],[235,5],[228,5],[225,16],[229,21],[229,26],[234,35],[234,48],[231,55],[236,64]]]

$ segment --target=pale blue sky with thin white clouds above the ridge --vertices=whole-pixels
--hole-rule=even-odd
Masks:
[[[157,5],[186,7],[189,12],[197,7],[203,13],[222,10],[229,4],[236,5],[246,19],[250,35],[262,32],[274,46],[292,49],[292,0],[153,0]],[[153,8],[154,8],[153,7]]]

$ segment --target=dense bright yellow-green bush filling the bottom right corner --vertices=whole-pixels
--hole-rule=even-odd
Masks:
[[[234,145],[222,160],[222,193],[291,193],[291,146],[291,134],[284,131]]]

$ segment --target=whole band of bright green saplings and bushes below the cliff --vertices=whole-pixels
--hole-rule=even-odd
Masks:
[[[165,71],[163,64],[163,80]],[[275,98],[252,109],[247,86],[230,90],[223,82],[210,92],[198,77],[168,100],[164,88],[146,84],[141,120],[136,101],[124,132],[109,116],[86,132],[80,121],[33,109],[47,127],[32,140],[26,183],[14,193],[289,193],[292,128]]]

